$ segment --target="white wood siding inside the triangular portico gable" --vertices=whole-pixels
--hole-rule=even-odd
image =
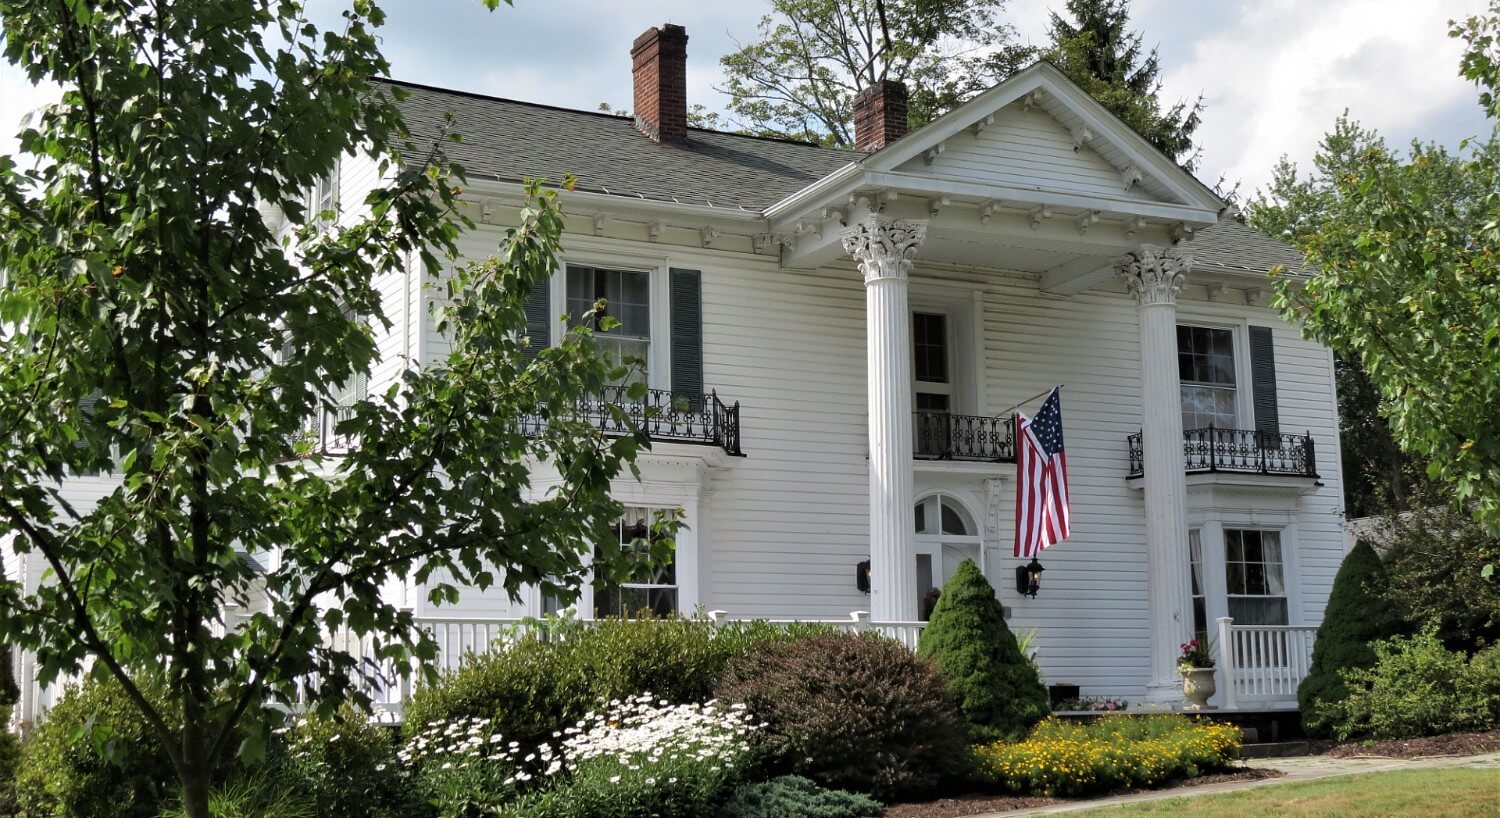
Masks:
[[[998,113],[978,137],[958,134],[932,164],[918,158],[903,170],[963,182],[1160,201],[1138,186],[1126,191],[1120,171],[1090,147],[1074,150],[1072,135],[1058,120],[1014,105]]]

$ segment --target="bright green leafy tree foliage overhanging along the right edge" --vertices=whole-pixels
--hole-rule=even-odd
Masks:
[[[1454,26],[1462,74],[1496,119],[1500,3]],[[1383,143],[1328,179],[1320,222],[1298,245],[1318,270],[1284,281],[1276,303],[1305,332],[1358,360],[1380,413],[1428,477],[1500,533],[1500,185],[1494,138],[1450,155]],[[1468,191],[1468,195],[1462,192]],[[1474,570],[1480,570],[1476,567]],[[1492,564],[1484,570],[1492,570]]]

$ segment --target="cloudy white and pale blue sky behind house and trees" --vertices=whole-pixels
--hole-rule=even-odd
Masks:
[[[315,0],[330,12],[340,3]],[[552,105],[630,102],[630,41],[660,23],[688,32],[688,98],[722,110],[718,57],[753,38],[766,0],[386,0],[386,50],[400,80]],[[1044,42],[1062,0],[1011,0],[1022,39]],[[1208,183],[1250,192],[1281,155],[1306,162],[1346,108],[1392,143],[1455,146],[1485,129],[1473,87],[1456,75],[1448,21],[1484,0],[1136,0],[1137,29],[1161,50],[1167,101],[1208,104],[1198,129]],[[0,66],[0,152],[14,123],[42,105]]]

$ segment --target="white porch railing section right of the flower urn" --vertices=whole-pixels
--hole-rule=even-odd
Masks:
[[[1296,705],[1298,684],[1312,666],[1316,626],[1234,624],[1218,620],[1224,707],[1245,704]]]

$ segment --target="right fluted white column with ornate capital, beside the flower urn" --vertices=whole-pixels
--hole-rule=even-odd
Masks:
[[[1178,380],[1178,293],[1192,258],[1142,245],[1120,275],[1140,312],[1142,453],[1146,491],[1146,585],[1150,612],[1148,698],[1180,698],[1179,645],[1192,633],[1188,483]]]

